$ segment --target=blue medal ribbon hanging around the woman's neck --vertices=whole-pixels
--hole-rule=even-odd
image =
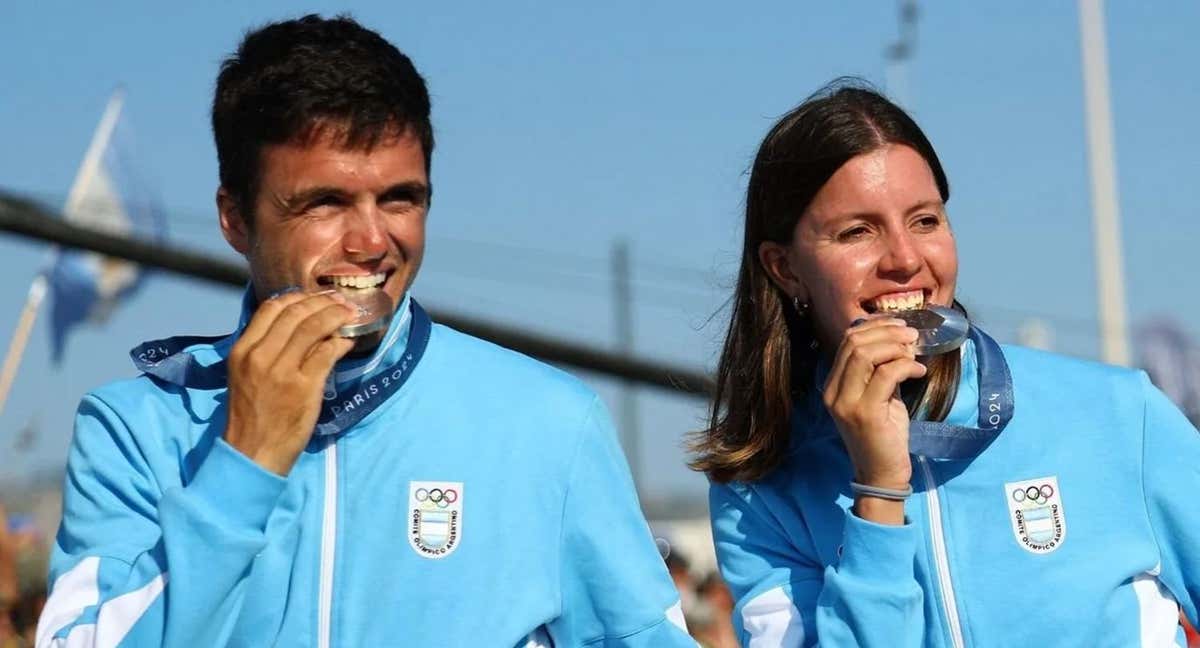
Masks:
[[[978,427],[940,421],[908,424],[908,451],[929,458],[966,460],[983,451],[1013,419],[1013,374],[1004,352],[988,334],[972,325],[967,332],[978,360]]]

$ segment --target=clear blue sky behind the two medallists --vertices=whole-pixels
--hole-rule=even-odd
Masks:
[[[212,208],[208,107],[248,28],[349,11],[408,53],[433,96],[438,149],[426,265],[431,306],[614,343],[610,253],[630,242],[636,349],[710,367],[732,283],[745,170],[774,118],[842,74],[887,80],[896,4],[25,2],[0,24],[0,186],[61,205],[108,95],[170,215],[172,240],[230,254]],[[950,178],[960,298],[1004,341],[1030,317],[1064,353],[1098,353],[1074,2],[922,6],[906,103]],[[1200,336],[1200,5],[1110,2],[1108,35],[1128,312]],[[0,331],[16,325],[35,242],[0,238]],[[156,276],[49,366],[38,322],[6,410],[0,478],[54,468],[80,395],[131,376],[126,350],[215,335],[239,295]],[[44,314],[44,313],[43,313]],[[613,385],[587,377],[617,406]],[[647,493],[701,494],[680,434],[703,403],[638,395]],[[12,437],[37,425],[32,449]]]

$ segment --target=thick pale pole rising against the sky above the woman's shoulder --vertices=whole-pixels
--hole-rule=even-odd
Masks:
[[[1084,107],[1087,114],[1087,161],[1092,180],[1100,356],[1105,362],[1128,365],[1121,222],[1103,0],[1079,0],[1079,26],[1084,59]]]

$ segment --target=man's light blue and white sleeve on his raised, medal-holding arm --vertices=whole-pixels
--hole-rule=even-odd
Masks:
[[[217,439],[190,482],[163,488],[152,463],[181,457],[143,425],[134,436],[96,395],[79,406],[38,648],[229,640],[286,480]]]

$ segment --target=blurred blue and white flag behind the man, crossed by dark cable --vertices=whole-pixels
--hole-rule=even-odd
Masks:
[[[161,241],[166,220],[160,200],[138,174],[128,127],[115,94],[100,120],[64,208],[73,224],[110,234]],[[67,334],[82,322],[102,324],[121,299],[142,284],[134,263],[80,250],[60,251],[48,270],[50,356],[62,361]]]

